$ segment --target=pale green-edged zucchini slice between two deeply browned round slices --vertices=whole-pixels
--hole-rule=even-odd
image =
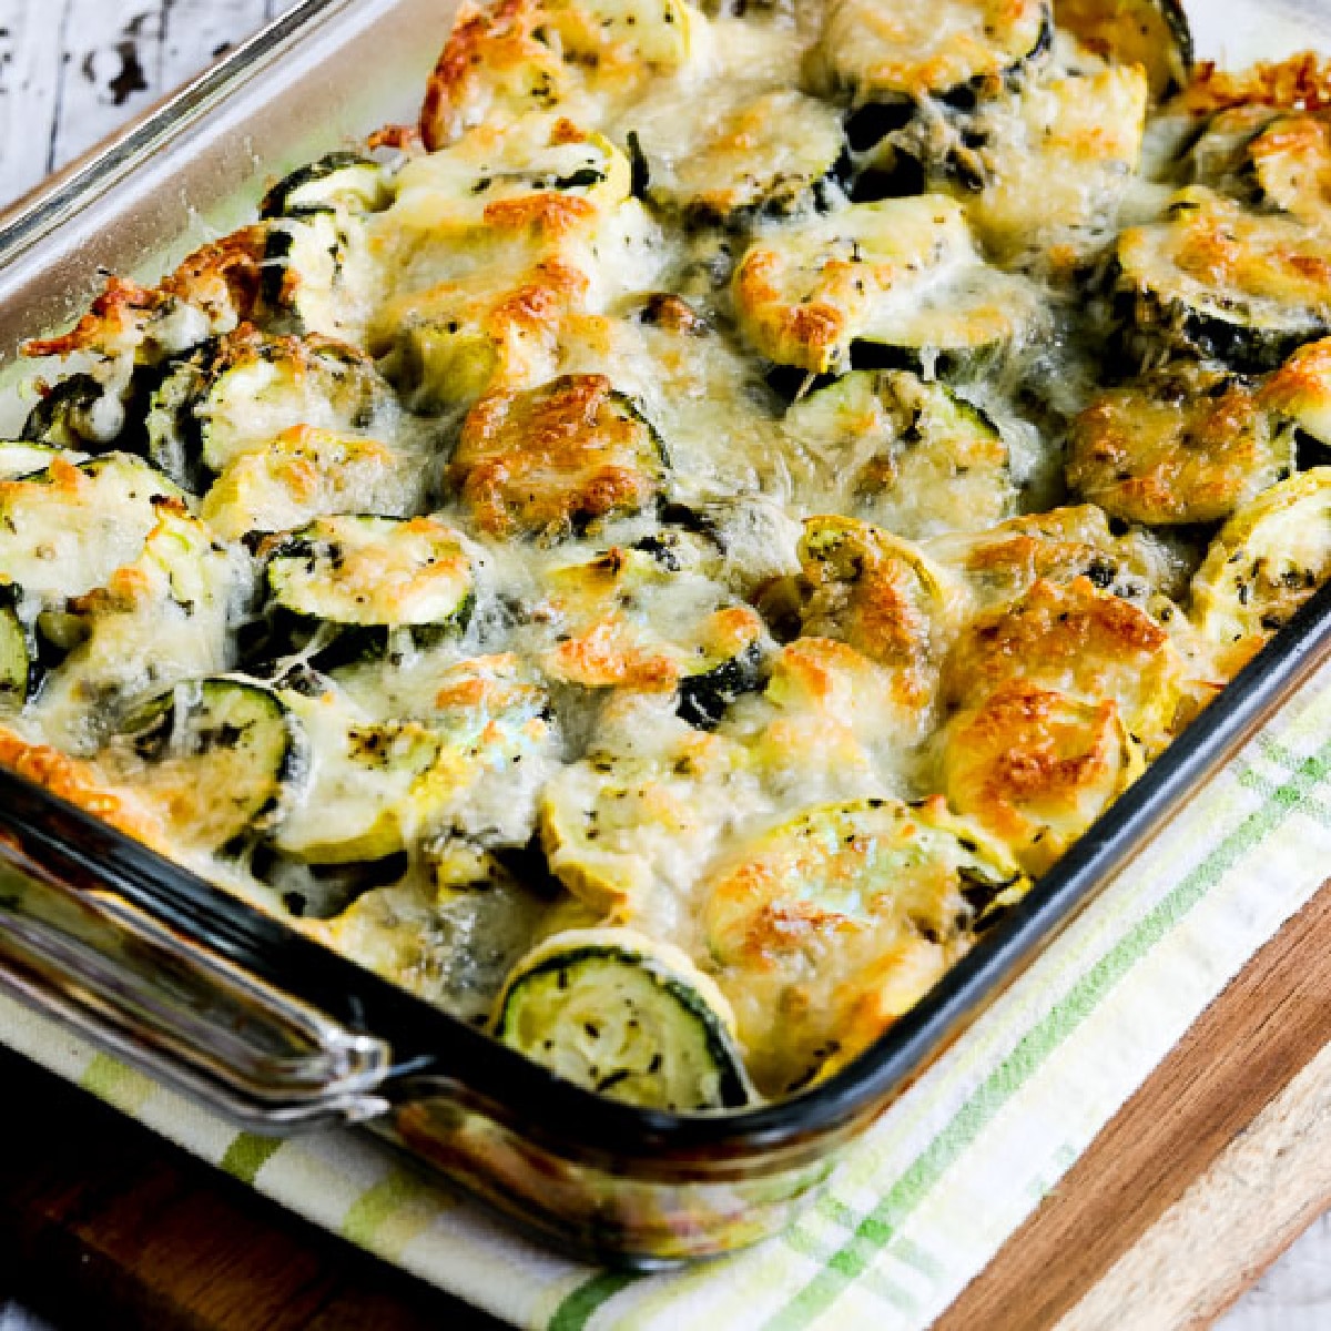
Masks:
[[[910,540],[978,531],[1016,511],[1008,446],[993,421],[906,371],[843,375],[785,414],[785,433],[835,478],[835,507]]]

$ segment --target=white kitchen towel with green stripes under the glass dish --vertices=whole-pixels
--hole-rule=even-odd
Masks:
[[[1331,667],[851,1151],[784,1235],[634,1276],[542,1250],[375,1139],[277,1142],[0,1002],[0,1038],[318,1225],[519,1326],[929,1324],[1331,862]]]

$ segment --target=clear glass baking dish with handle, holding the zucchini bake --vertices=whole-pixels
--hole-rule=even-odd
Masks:
[[[244,221],[265,180],[414,116],[451,17],[306,0],[0,218],[0,430],[16,349]],[[365,53],[373,48],[373,60]],[[878,1044],[781,1103],[677,1115],[562,1082],[0,771],[0,985],[237,1123],[358,1122],[547,1239],[652,1266],[781,1229],[840,1151],[1318,667],[1320,592],[1017,909]]]

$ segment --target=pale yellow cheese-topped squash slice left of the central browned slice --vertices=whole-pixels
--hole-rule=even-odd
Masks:
[[[228,540],[291,531],[318,516],[406,518],[425,490],[425,459],[378,439],[298,425],[237,457],[204,498],[204,520]]]

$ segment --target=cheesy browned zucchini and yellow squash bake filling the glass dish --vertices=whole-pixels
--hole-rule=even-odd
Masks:
[[[0,761],[596,1091],[788,1095],[1331,575],[1328,334],[1331,68],[1175,0],[465,5],[28,345]]]

